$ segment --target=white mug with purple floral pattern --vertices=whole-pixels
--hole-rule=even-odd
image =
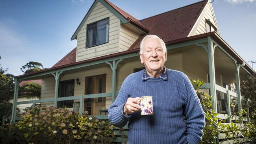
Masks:
[[[152,96],[141,96],[140,98],[140,107],[141,115],[153,115],[153,98]]]

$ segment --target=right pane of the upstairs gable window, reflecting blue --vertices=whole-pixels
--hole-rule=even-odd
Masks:
[[[105,19],[98,22],[97,44],[102,44],[108,41],[108,23],[109,23],[109,19]]]

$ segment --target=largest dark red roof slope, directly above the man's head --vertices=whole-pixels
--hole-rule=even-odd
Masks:
[[[128,50],[139,48],[143,37],[150,34],[158,35],[164,42],[187,37],[207,2],[208,0],[203,0],[140,20],[147,26],[149,32],[141,35]]]

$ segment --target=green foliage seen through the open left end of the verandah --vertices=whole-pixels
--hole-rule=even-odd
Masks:
[[[38,83],[24,83],[19,87],[19,96],[25,96],[27,99],[40,98],[41,85]]]

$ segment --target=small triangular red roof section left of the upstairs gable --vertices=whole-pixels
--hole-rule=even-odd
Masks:
[[[61,65],[67,65],[70,63],[75,63],[76,62],[76,48],[74,48],[69,54],[65,55],[58,63],[56,63],[52,68],[61,66]]]

